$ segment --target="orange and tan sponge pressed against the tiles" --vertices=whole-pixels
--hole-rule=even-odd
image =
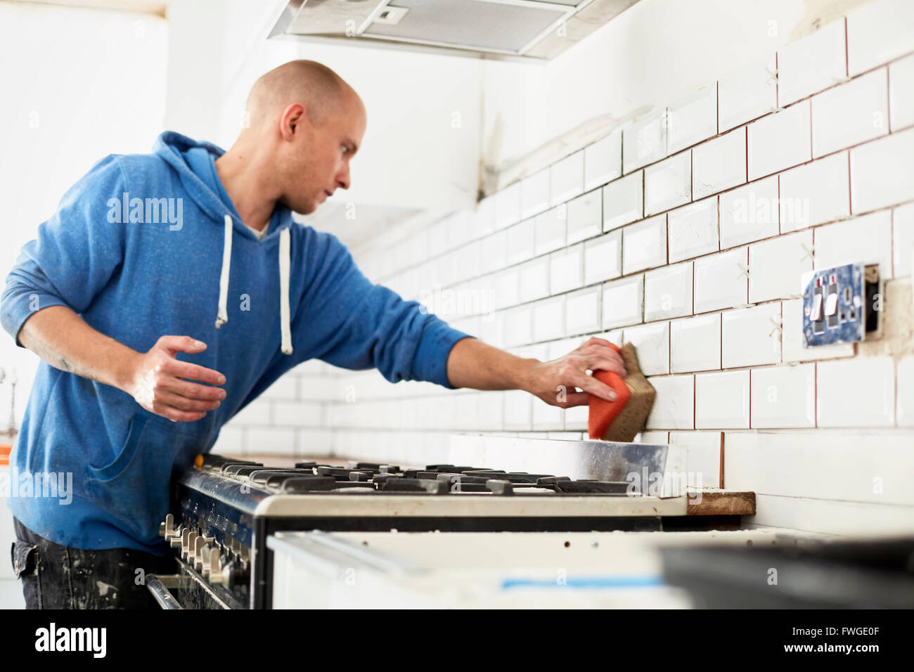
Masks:
[[[591,439],[631,442],[635,434],[644,429],[647,416],[654,406],[656,391],[638,367],[634,346],[631,343],[622,347],[610,345],[622,356],[628,376],[622,379],[612,371],[593,371],[595,379],[616,391],[616,400],[607,401],[595,394],[590,395],[587,431]]]

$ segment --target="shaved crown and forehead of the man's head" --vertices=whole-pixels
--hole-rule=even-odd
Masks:
[[[314,60],[291,60],[254,82],[247,110],[251,127],[273,123],[294,102],[304,105],[308,120],[323,126],[356,92],[332,69]]]

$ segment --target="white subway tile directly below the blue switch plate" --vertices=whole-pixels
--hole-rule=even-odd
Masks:
[[[895,424],[895,363],[891,357],[855,357],[816,364],[819,427]]]

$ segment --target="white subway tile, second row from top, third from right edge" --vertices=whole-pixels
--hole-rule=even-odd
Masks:
[[[749,180],[813,158],[809,101],[749,124]]]

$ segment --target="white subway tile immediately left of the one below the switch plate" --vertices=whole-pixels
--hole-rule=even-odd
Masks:
[[[751,375],[754,429],[815,427],[815,365],[754,368]]]

